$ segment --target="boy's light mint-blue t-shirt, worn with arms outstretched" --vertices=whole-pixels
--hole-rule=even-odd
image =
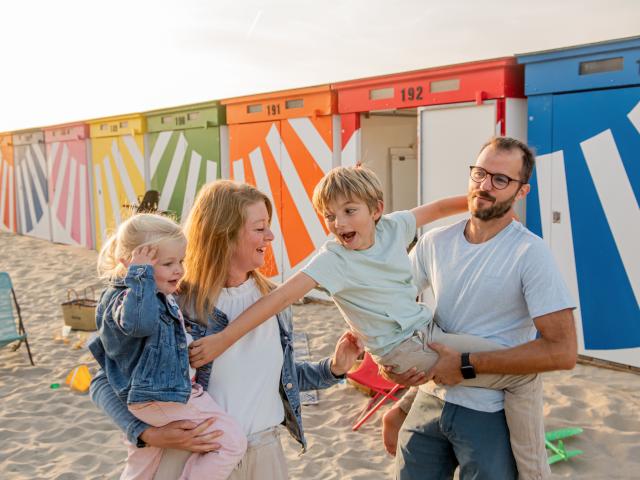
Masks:
[[[367,250],[348,250],[327,241],[302,272],[326,290],[368,351],[385,355],[433,314],[416,303],[407,247],[416,234],[409,211],[383,215]]]

